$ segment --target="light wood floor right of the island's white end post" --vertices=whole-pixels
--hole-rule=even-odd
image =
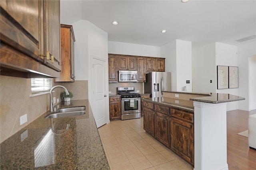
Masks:
[[[227,111],[227,149],[229,170],[256,170],[256,150],[249,149],[248,138],[237,135],[248,129],[252,111]]]

